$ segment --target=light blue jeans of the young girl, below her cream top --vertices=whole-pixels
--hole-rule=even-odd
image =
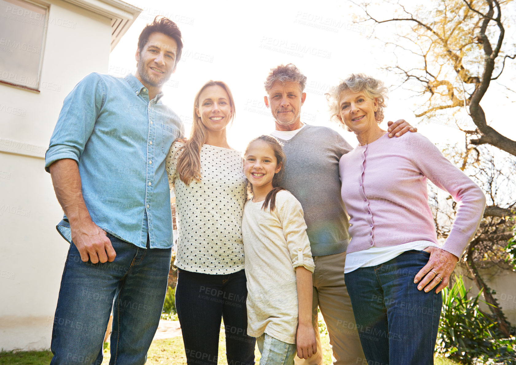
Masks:
[[[294,365],[297,353],[295,344],[280,341],[267,334],[256,338],[256,343],[262,354],[260,365]]]

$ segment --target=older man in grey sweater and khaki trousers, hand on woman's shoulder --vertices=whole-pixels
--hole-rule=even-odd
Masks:
[[[280,185],[300,202],[314,256],[312,325],[317,353],[296,364],[322,364],[317,308],[324,317],[334,365],[362,363],[365,359],[344,283],[344,262],[350,237],[348,218],[341,199],[338,162],[352,150],[334,130],[301,122],[301,106],[307,77],[293,64],[271,69],[265,81],[265,105],[275,119],[271,132],[284,144],[286,164]],[[389,122],[389,137],[415,132],[405,120]],[[302,324],[299,324],[302,325]]]

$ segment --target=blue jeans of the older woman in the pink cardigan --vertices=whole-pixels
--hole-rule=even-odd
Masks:
[[[345,274],[367,363],[433,364],[442,295],[418,291],[414,284],[429,257],[428,252],[410,250]]]

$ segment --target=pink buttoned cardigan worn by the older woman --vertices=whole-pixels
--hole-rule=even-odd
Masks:
[[[419,133],[387,134],[357,146],[339,164],[342,200],[351,217],[347,252],[414,241],[437,243],[428,205],[426,179],[459,203],[450,234],[441,248],[462,256],[486,207],[480,188]]]

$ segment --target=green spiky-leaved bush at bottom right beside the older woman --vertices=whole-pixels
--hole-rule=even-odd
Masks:
[[[462,277],[455,278],[443,290],[436,352],[464,364],[516,365],[514,338],[501,338],[496,322],[478,308],[481,292],[468,299]]]

